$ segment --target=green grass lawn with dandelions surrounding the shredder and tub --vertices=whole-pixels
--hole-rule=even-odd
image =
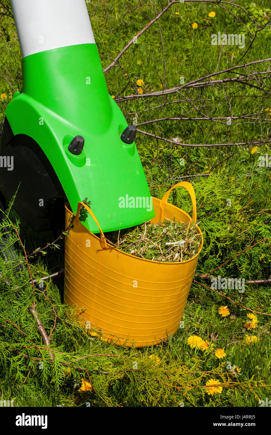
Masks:
[[[238,3],[246,5],[249,15],[265,23],[261,15],[264,10],[268,11],[267,0],[255,1],[254,4],[244,1]],[[137,1],[127,3],[124,0],[110,0],[87,3],[87,7],[104,67],[156,16],[151,2],[145,2],[140,7]],[[158,2],[155,2],[155,7],[157,11],[161,9]],[[215,11],[214,18],[208,17],[210,11]],[[247,28],[215,3],[205,3],[205,6],[201,3],[174,4],[159,20],[163,45],[159,24],[155,23],[120,58],[122,68],[114,67],[107,72],[109,93],[116,98],[137,94],[138,79],[144,81],[144,94],[151,90],[161,91],[178,86],[180,77],[184,77],[187,83],[213,74],[216,68],[220,71],[234,66],[251,42],[249,31],[255,30],[252,21],[241,10],[236,14]],[[197,29],[192,29],[194,22],[198,24]],[[7,43],[1,32],[0,73],[6,80],[0,77],[0,90],[1,94],[7,95],[1,101],[2,120],[5,107],[13,95],[12,87],[17,90],[22,85],[16,28],[10,18],[1,18],[1,23],[11,38]],[[224,29],[226,33],[244,33],[246,45],[244,50],[224,47],[217,67],[221,46],[211,45],[211,34],[218,31],[223,33]],[[240,64],[267,58],[270,55],[270,37],[271,29],[258,32],[252,48]],[[252,65],[250,69],[267,71],[268,67],[269,64],[264,63]],[[234,74],[214,76],[214,80],[249,72],[242,68]],[[28,272],[25,271],[24,277],[18,282],[14,278],[14,267],[10,264],[7,266],[1,259],[3,278],[10,281],[10,287],[0,281],[1,315],[27,334],[26,337],[19,333],[1,318],[0,378],[4,399],[16,397],[14,405],[17,406],[56,406],[62,403],[65,406],[85,406],[89,402],[91,406],[257,407],[259,400],[271,398],[270,316],[257,315],[258,328],[252,333],[244,328],[249,313],[244,307],[271,315],[270,284],[247,284],[247,280],[266,279],[271,275],[271,171],[270,167],[258,166],[259,156],[266,153],[271,155],[268,142],[271,117],[265,111],[271,107],[271,81],[269,74],[266,75],[267,78],[261,80],[263,90],[244,83],[231,83],[184,89],[180,94],[167,97],[140,97],[119,102],[128,123],[136,119],[138,124],[164,117],[259,114],[257,120],[237,119],[232,120],[231,125],[226,120],[222,123],[212,120],[164,120],[138,127],[169,140],[179,137],[181,143],[185,144],[262,141],[252,154],[254,145],[249,144],[185,148],[137,134],[137,149],[153,196],[161,198],[172,184],[182,179],[191,181],[194,186],[197,218],[204,233],[204,247],[195,280],[209,288],[193,282],[182,327],[161,346],[137,350],[108,345],[95,337],[90,339],[90,335],[73,320],[72,310],[62,304],[63,280],[49,282],[47,297],[54,304],[58,316],[52,335],[52,348],[62,352],[55,354],[56,361],[52,365],[33,318],[27,311],[33,300]],[[249,83],[258,86],[255,80]],[[174,102],[177,100],[180,102]],[[191,178],[182,178],[187,175]],[[190,198],[181,188],[170,195],[169,201],[191,214]],[[14,221],[15,215],[11,217]],[[20,223],[20,235],[27,253],[53,241],[52,234],[36,234],[23,223]],[[23,261],[20,244],[17,243],[16,247]],[[41,278],[59,270],[63,264],[62,254],[48,258],[43,256],[31,261],[31,273],[34,278]],[[217,270],[212,272],[213,269]],[[236,289],[217,290],[239,305],[212,291],[211,281],[201,278],[202,274],[244,278],[246,284],[243,293]],[[18,285],[20,294],[16,295],[13,288]],[[36,303],[44,328],[50,331],[54,325],[52,307],[38,293]],[[218,314],[221,305],[228,305],[230,315],[226,318]],[[214,354],[207,358],[209,352],[206,354],[187,346],[190,335],[211,340],[211,334],[217,337],[212,341],[214,349],[225,350],[226,355],[221,360]],[[246,335],[257,336],[258,342],[254,345],[244,344]],[[22,353],[30,358],[23,357]],[[160,361],[149,358],[151,354],[159,357]],[[74,362],[82,357],[86,358]],[[39,368],[40,361],[33,358],[42,358],[43,370]],[[70,374],[65,375],[66,368],[61,363],[71,361]],[[241,368],[238,378],[230,371],[234,365]],[[81,371],[78,366],[82,368]],[[83,377],[88,380],[87,373],[96,392],[92,389],[88,393],[77,394],[80,379]],[[221,382],[221,394],[207,395],[204,385],[211,378]]]

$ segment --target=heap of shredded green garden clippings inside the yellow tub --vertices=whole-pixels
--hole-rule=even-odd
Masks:
[[[136,227],[105,234],[106,240],[120,251],[145,260],[180,262],[197,254],[201,235],[194,222],[189,224],[167,219],[152,224],[150,221]]]

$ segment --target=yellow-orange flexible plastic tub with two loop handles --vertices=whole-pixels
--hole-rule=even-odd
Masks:
[[[175,187],[187,189],[193,204],[192,220],[196,222],[196,198],[187,181],[175,184],[162,200],[152,198],[155,211],[153,223],[169,218],[185,224],[191,220],[183,210],[168,204]],[[100,238],[90,233],[79,221],[84,206],[100,229]],[[66,228],[73,216],[66,208]],[[156,345],[179,328],[188,292],[203,246],[193,258],[165,263],[144,260],[113,248],[106,243],[93,212],[78,203],[73,228],[65,236],[64,302],[81,312],[86,324],[100,330],[106,340],[117,345],[136,347]]]

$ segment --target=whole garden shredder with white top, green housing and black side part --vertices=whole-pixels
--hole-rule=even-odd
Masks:
[[[85,198],[104,231],[153,218],[136,127],[107,92],[85,1],[11,0],[11,6],[23,90],[5,113],[2,196],[10,201],[16,194],[15,211],[36,231],[62,231],[65,202],[76,211]],[[123,197],[141,200],[120,208]],[[90,218],[84,225],[99,231]]]

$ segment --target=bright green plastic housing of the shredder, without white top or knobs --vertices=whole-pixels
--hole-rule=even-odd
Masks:
[[[120,139],[127,122],[108,94],[96,44],[24,57],[23,92],[6,116],[14,134],[32,137],[47,155],[74,212],[87,197],[103,231],[154,218],[137,148]],[[85,139],[79,156],[68,151],[77,135]],[[99,231],[90,216],[82,223]]]

